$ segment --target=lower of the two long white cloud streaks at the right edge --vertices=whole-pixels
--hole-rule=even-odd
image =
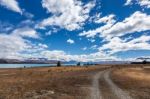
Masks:
[[[143,35],[130,41],[119,37],[112,38],[108,43],[99,48],[100,51],[109,50],[109,54],[128,50],[150,50],[150,36]]]

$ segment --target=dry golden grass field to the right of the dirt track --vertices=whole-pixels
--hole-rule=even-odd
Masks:
[[[112,80],[134,99],[150,99],[150,68],[114,69]]]

